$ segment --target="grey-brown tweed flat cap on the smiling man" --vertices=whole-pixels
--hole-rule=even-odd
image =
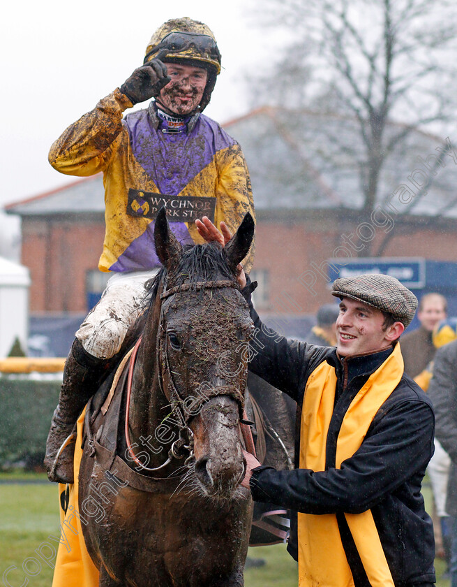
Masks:
[[[398,322],[408,326],[417,309],[417,297],[400,284],[395,277],[379,273],[364,273],[357,277],[340,277],[331,291],[337,298],[359,300],[392,314]]]

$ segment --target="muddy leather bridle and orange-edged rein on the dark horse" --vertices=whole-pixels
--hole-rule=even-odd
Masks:
[[[226,288],[226,287],[233,287],[235,289],[239,289],[239,286],[237,284],[237,282],[231,282],[231,281],[216,281],[216,282],[197,282],[195,284],[182,284],[179,286],[175,286],[172,287],[170,289],[167,289],[166,291],[164,291],[163,293],[160,293],[160,300],[165,300],[166,298],[169,298],[170,296],[173,296],[175,293],[180,293],[181,291],[189,291],[190,289],[192,290],[198,290],[198,289],[222,289],[222,288]],[[162,328],[162,321],[163,321],[163,305],[161,305],[160,307],[160,319],[159,319],[159,324],[158,324],[158,345],[157,345],[157,365],[158,368],[160,368],[160,365],[162,364],[162,361],[160,361],[161,357],[161,349],[162,349],[162,345],[164,347],[163,349],[163,363],[165,363],[165,373],[167,373],[167,392],[165,392],[165,389],[163,388],[163,384],[162,384],[162,379],[163,377],[158,377],[158,384],[160,387],[160,391],[162,391],[163,395],[165,396],[165,398],[167,398],[167,401],[169,401],[172,405],[174,405],[174,407],[181,407],[181,406],[185,406],[186,405],[186,399],[188,398],[181,398],[181,396],[179,395],[179,391],[177,390],[173,378],[172,378],[172,371],[170,368],[170,362],[168,360],[168,354],[166,352],[166,341],[165,341],[165,335],[163,334],[163,328]],[[204,398],[202,398],[200,396],[200,402],[197,404],[198,407],[198,411],[195,412],[195,403],[193,403],[193,409],[192,409],[192,414],[188,414],[188,417],[186,419],[184,419],[184,414],[186,414],[188,412],[188,410],[185,409],[181,409],[181,414],[182,417],[186,423],[186,426],[183,426],[179,432],[179,438],[177,440],[175,440],[172,444],[172,447],[170,448],[170,451],[168,452],[168,458],[167,461],[165,461],[165,463],[163,463],[162,465],[155,467],[155,468],[150,468],[147,467],[146,465],[143,465],[143,463],[140,461],[139,458],[137,458],[137,456],[135,456],[135,453],[133,452],[133,447],[132,444],[130,442],[130,432],[129,432],[129,426],[128,426],[128,414],[130,412],[130,396],[132,393],[132,382],[133,382],[133,370],[135,368],[135,359],[137,356],[137,352],[138,352],[138,348],[140,347],[140,344],[142,342],[142,337],[140,337],[136,344],[135,347],[133,348],[133,352],[130,355],[130,361],[129,361],[129,365],[128,365],[128,379],[127,379],[127,398],[126,398],[126,418],[125,418],[125,435],[126,435],[126,444],[127,444],[127,449],[128,449],[128,454],[130,455],[130,457],[133,459],[133,461],[135,462],[136,465],[138,465],[140,468],[142,468],[142,470],[145,471],[158,471],[160,469],[165,468],[167,465],[169,465],[172,462],[172,458],[183,458],[183,454],[181,454],[181,449],[187,449],[189,451],[189,456],[188,458],[186,458],[185,461],[185,465],[188,463],[188,461],[190,461],[191,458],[193,458],[193,432],[192,430],[190,430],[189,426],[188,426],[188,419],[190,419],[190,416],[192,415],[196,415],[198,413],[198,411],[200,411],[200,407],[203,405],[203,403],[207,400],[209,400],[209,398],[214,397],[214,396],[220,396],[223,395],[223,391],[225,389],[225,386],[218,386],[217,388],[213,388],[213,392],[215,393],[209,393],[207,396],[204,396]],[[229,388],[227,388],[227,390],[229,390]],[[230,391],[232,391],[232,388],[230,388]],[[233,392],[227,395],[231,395],[233,396]],[[237,401],[239,401],[241,403],[241,406],[243,405],[243,399],[244,396],[242,394],[241,395],[241,401],[240,398],[235,396],[234,399],[236,399]],[[196,400],[196,398],[194,398]],[[194,413],[195,412],[195,413]],[[243,428],[243,424],[241,424],[241,430],[244,433],[244,436],[246,435],[246,430],[244,430]],[[188,433],[188,437],[190,438],[190,442],[189,444],[185,444],[186,440],[181,437],[181,432],[183,430],[186,430],[186,432]],[[252,439],[252,436],[251,436]],[[253,449],[253,454],[255,455],[255,449]]]

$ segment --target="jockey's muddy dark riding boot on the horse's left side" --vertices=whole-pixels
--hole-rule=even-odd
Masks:
[[[109,359],[89,354],[76,338],[63,369],[59,403],[47,437],[45,467],[50,481],[73,483],[75,423],[84,406],[98,389]]]

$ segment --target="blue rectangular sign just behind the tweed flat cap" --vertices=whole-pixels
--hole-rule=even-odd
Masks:
[[[382,273],[396,277],[410,289],[422,289],[426,284],[425,259],[365,257],[361,259],[329,259],[328,275],[332,282],[338,277],[355,277],[362,273]]]

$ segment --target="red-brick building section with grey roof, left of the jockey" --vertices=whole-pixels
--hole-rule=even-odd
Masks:
[[[103,291],[98,257],[105,234],[101,175],[8,205],[22,218],[21,259],[31,273],[32,313],[87,310]]]

